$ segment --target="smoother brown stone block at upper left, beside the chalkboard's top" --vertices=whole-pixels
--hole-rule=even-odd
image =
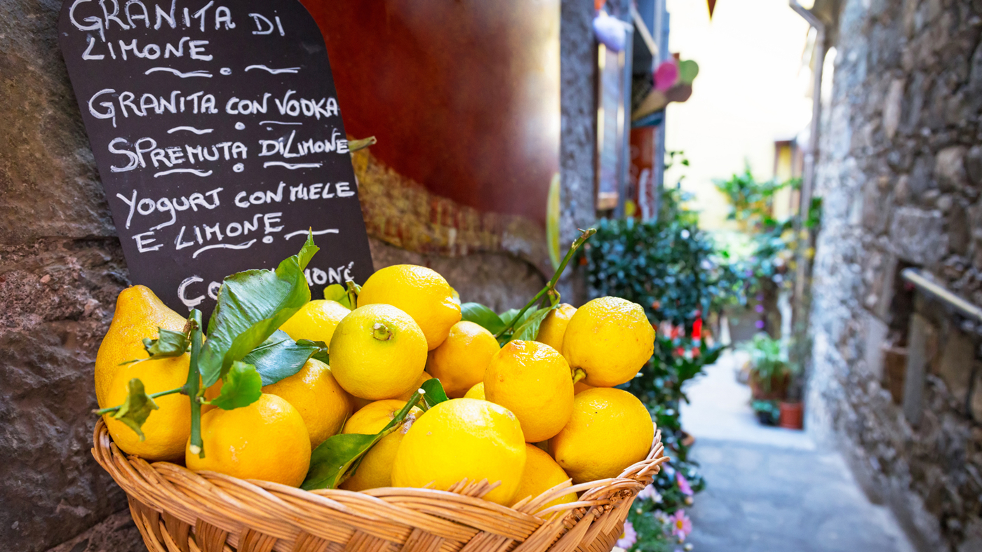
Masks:
[[[61,1],[0,2],[0,243],[115,227],[57,43]]]

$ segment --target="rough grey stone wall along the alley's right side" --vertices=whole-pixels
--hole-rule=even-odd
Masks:
[[[982,549],[977,340],[899,275],[982,304],[980,33],[982,2],[843,0],[822,122],[806,422],[924,550]]]

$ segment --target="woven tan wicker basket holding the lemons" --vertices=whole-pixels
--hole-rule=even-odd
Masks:
[[[648,457],[620,476],[566,482],[507,508],[480,498],[494,488],[487,481],[304,491],[128,458],[101,419],[93,441],[152,552],[609,552],[634,496],[667,460],[656,428]],[[582,493],[577,502],[531,514],[571,490]]]

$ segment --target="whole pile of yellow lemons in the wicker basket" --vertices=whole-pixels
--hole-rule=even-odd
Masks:
[[[186,395],[157,400],[143,441],[111,415],[104,419],[116,444],[145,460],[184,460],[189,469],[297,486],[312,448],[339,432],[379,432],[435,377],[451,400],[413,409],[342,488],[446,489],[465,477],[487,479],[501,484],[485,498],[512,505],[569,478],[614,477],[645,458],[654,437],[650,415],[634,396],[614,389],[652,355],[654,329],[640,305],[611,297],[578,309],[562,304],[543,320],[536,341],[504,347],[461,318],[460,300],[442,276],[422,266],[390,266],[365,282],[354,310],[311,301],[283,324],[295,340],[329,343],[330,366],[309,359],[295,375],[263,387],[247,407],[205,407],[205,458],[189,450]],[[147,288],[123,291],[95,362],[100,408],[121,404],[135,377],[147,393],[180,387],[188,355],[120,362],[146,358],[140,340],[155,337],[158,327],[180,331],[184,324]],[[553,504],[573,500],[570,493]]]

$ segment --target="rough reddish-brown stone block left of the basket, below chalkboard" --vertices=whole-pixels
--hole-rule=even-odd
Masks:
[[[125,285],[115,240],[0,246],[0,548],[44,550],[124,508],[89,454],[95,353]]]

